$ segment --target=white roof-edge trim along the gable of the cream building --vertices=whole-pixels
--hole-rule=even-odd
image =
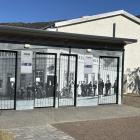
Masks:
[[[55,27],[68,26],[68,25],[71,25],[71,24],[77,24],[77,23],[87,22],[87,21],[101,19],[101,18],[107,18],[107,17],[110,17],[110,16],[117,16],[117,15],[124,15],[124,16],[140,23],[140,19],[137,18],[136,16],[134,16],[134,15],[132,15],[132,14],[130,14],[130,13],[124,11],[124,10],[119,10],[119,11],[114,11],[114,12],[108,12],[108,13],[103,13],[103,14],[98,14],[98,15],[93,15],[93,16],[84,16],[84,17],[81,17],[81,18],[56,22]]]

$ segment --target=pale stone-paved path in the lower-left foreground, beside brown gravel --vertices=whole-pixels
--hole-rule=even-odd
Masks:
[[[15,140],[74,140],[71,136],[51,125],[11,128],[5,130],[14,135]]]

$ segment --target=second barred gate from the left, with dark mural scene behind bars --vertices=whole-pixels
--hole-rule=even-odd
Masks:
[[[54,53],[36,53],[35,107],[54,107],[56,91],[56,60]]]

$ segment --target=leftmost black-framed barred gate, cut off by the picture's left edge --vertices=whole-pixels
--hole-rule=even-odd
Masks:
[[[17,52],[0,50],[0,109],[16,106]]]

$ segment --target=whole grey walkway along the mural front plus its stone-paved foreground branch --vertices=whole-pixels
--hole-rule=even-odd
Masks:
[[[0,128],[12,132],[16,135],[17,140],[45,140],[46,138],[47,140],[73,140],[67,134],[52,127],[51,124],[133,116],[140,116],[140,108],[125,105],[102,105],[58,109],[38,108],[26,111],[4,110],[0,111]]]

